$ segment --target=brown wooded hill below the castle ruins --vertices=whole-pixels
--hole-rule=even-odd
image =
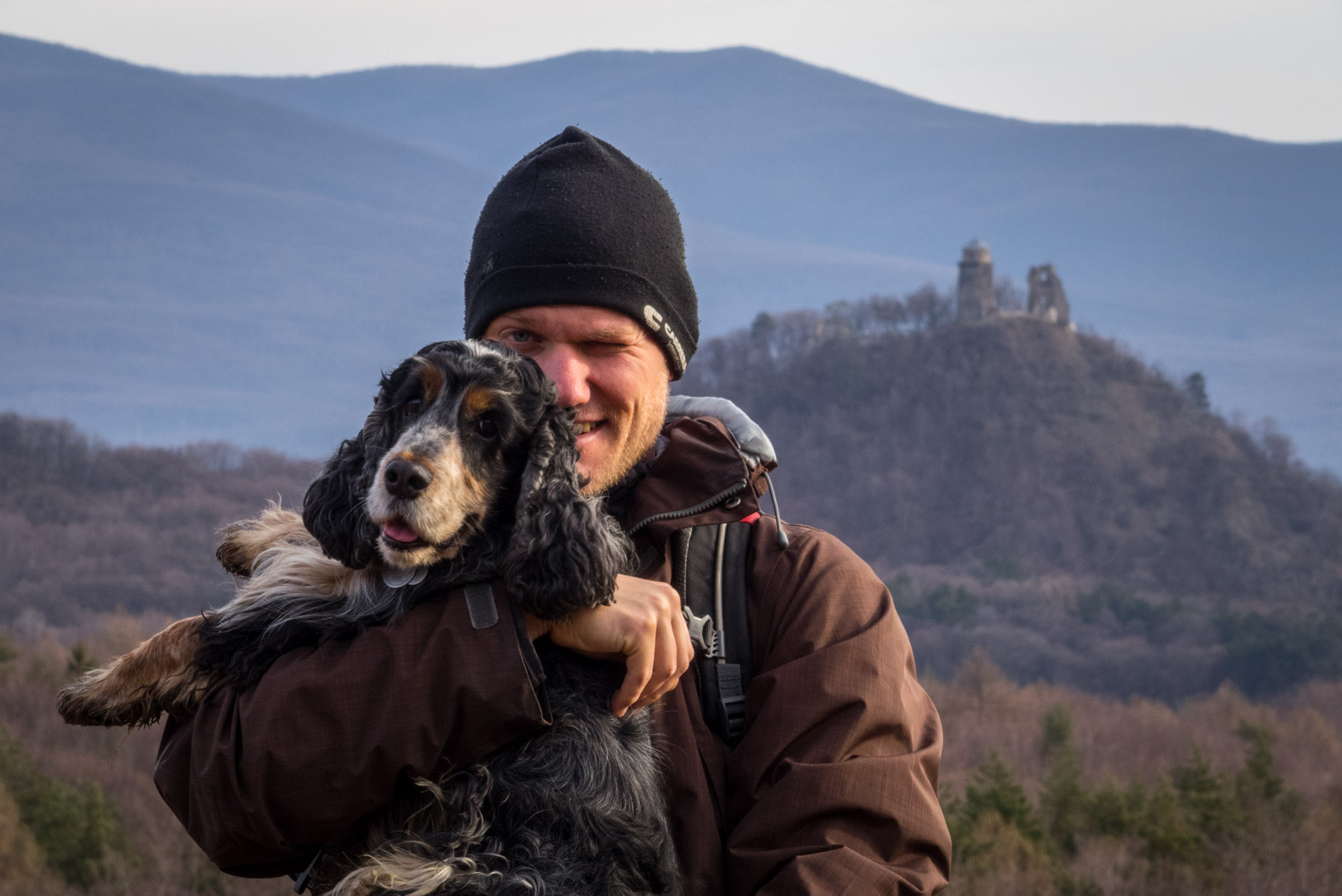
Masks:
[[[1342,674],[1342,485],[1113,341],[931,292],[761,316],[686,394],[770,434],[784,514],[890,580],[922,662],[1178,697]],[[1215,387],[1215,383],[1213,383]]]

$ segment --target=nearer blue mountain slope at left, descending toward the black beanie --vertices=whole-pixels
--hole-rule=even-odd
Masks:
[[[177,74],[0,36],[0,407],[325,453],[446,300],[491,180]]]

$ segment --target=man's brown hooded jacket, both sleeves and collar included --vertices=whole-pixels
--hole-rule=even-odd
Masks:
[[[628,500],[651,579],[670,582],[686,525],[758,509],[718,501],[752,481],[717,420],[680,419]],[[659,519],[660,517],[660,519]],[[753,529],[747,728],[727,755],[694,686],[652,707],[686,893],[931,893],[949,875],[937,802],[941,720],[918,685],[890,594],[855,553],[772,517]],[[413,776],[442,774],[548,724],[534,653],[502,618],[472,629],[460,591],[349,642],[282,657],[252,689],[212,692],[164,731],[154,780],[224,870],[301,870]]]

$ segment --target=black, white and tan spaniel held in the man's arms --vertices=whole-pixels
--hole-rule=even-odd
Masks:
[[[395,622],[450,586],[502,580],[558,619],[608,603],[632,547],[582,494],[572,411],[527,357],[433,343],[385,375],[362,430],[309,488],[302,519],[231,525],[239,576],[217,611],[181,619],[66,688],[71,724],[146,725],[247,688],[283,653]],[[553,725],[420,780],[327,849],[319,888],[364,893],[651,896],[680,892],[647,709],[616,719],[623,669],[538,642]],[[544,782],[544,786],[537,786]]]

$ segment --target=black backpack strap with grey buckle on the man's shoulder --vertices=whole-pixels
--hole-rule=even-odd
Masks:
[[[750,524],[714,523],[672,535],[672,580],[695,641],[705,721],[729,748],[745,735],[750,686],[746,560]]]

